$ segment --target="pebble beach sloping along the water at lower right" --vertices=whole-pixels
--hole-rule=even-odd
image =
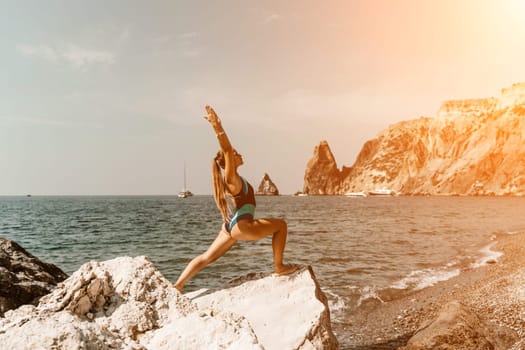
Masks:
[[[497,234],[493,252],[503,253],[487,265],[415,290],[399,299],[369,302],[344,320],[337,334],[342,349],[397,349],[443,307],[458,301],[480,318],[509,328],[517,335],[516,349],[525,346],[525,232]]]

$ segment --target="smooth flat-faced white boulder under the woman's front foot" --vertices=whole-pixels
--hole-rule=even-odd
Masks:
[[[338,348],[326,295],[310,266],[290,276],[249,274],[193,301],[243,315],[265,349]]]

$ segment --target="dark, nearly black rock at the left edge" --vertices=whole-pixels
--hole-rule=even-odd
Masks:
[[[0,237],[0,317],[23,304],[38,303],[67,275],[40,261],[16,242]]]

